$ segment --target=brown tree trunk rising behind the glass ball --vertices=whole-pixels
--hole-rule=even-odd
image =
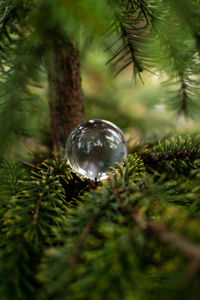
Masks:
[[[65,147],[71,131],[83,121],[79,52],[73,41],[54,43],[48,81],[53,150],[58,152]]]

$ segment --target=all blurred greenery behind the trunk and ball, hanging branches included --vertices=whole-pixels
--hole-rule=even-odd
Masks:
[[[27,160],[51,154],[47,65],[53,61],[54,39],[69,37],[80,50],[86,120],[114,122],[130,147],[199,132],[198,1],[12,5],[5,1],[0,7],[3,154],[9,149]]]

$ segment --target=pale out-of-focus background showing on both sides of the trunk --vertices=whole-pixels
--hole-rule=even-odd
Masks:
[[[105,119],[115,123],[125,133],[130,148],[151,143],[170,135],[198,133],[198,111],[186,118],[171,109],[169,89],[162,82],[165,74],[144,71],[142,81],[132,76],[132,66],[114,77],[112,66],[106,65],[109,54],[103,45],[93,43],[81,56],[85,119]],[[178,87],[175,86],[175,89]],[[18,157],[31,160],[35,155],[46,156],[51,150],[51,133],[46,75],[41,86],[32,88],[38,95],[31,107],[33,137],[26,138],[14,149]],[[29,124],[30,128],[30,124]]]

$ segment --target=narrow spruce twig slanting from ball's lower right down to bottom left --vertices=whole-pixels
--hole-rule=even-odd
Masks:
[[[87,252],[90,245],[90,236],[93,236],[95,232],[95,239],[98,240],[96,243],[97,245],[101,244],[103,236],[101,238],[100,232],[97,232],[98,228],[100,228],[99,226],[101,226],[100,224],[102,224],[102,220],[112,223],[114,220],[117,222],[122,217],[119,207],[124,205],[124,201],[121,202],[120,200],[118,202],[119,195],[123,193],[126,195],[130,187],[136,186],[136,182],[139,185],[139,181],[144,174],[144,166],[137,156],[130,157],[129,160],[125,161],[125,166],[127,169],[126,167],[118,166],[110,184],[105,182],[102,187],[84,196],[84,202],[76,209],[69,211],[64,231],[64,236],[67,237],[64,247],[57,249],[57,251],[56,249],[49,251],[50,257],[52,255],[54,257],[56,253],[55,255],[59,257],[59,261],[53,259],[47,265],[44,264],[43,271],[39,276],[40,280],[47,284],[48,299],[65,299],[66,294],[71,299],[74,299],[71,286],[73,282],[77,281],[80,261],[84,259],[83,253]],[[116,214],[117,211],[118,214]],[[124,222],[126,221],[124,220]],[[98,250],[98,246],[94,245],[93,247],[93,251]],[[48,256],[46,259],[48,261]],[[57,266],[56,268],[55,265]],[[55,272],[49,272],[49,268],[54,269]],[[58,279],[56,286],[53,284],[55,278]]]

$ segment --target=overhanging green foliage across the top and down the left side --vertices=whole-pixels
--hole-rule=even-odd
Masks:
[[[22,137],[38,136],[39,122],[31,116],[41,100],[33,86],[45,86],[55,40],[63,45],[75,39],[81,52],[91,39],[99,45],[103,40],[116,73],[131,64],[135,77],[144,70],[164,72],[172,83],[166,87],[167,102],[179,113],[194,112],[199,107],[198,18],[198,1],[2,1],[0,155]]]

